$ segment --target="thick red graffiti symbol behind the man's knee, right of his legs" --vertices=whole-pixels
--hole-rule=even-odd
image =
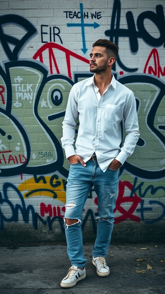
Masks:
[[[133,213],[136,211],[137,206],[139,203],[141,203],[142,199],[138,197],[136,193],[134,193],[133,197],[124,196],[125,187],[129,188],[129,190],[131,191],[133,185],[128,181],[119,181],[119,192],[114,212],[118,211],[119,213],[121,213],[121,216],[115,217],[115,223],[121,223],[122,221],[127,219],[140,222],[141,218],[139,216],[135,216]],[[126,210],[126,207],[128,207],[128,205],[124,208],[122,206],[123,203],[130,203],[128,210]],[[95,198],[95,204],[98,205],[97,197]]]

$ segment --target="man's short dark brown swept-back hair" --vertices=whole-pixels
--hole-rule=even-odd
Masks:
[[[101,46],[106,47],[105,52],[108,57],[114,57],[115,60],[117,59],[119,47],[115,45],[113,42],[107,39],[99,39],[95,43],[93,43],[92,47]]]

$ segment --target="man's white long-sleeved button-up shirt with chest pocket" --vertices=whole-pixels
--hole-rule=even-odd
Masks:
[[[130,156],[140,132],[134,94],[115,80],[114,76],[102,96],[95,86],[94,76],[76,83],[69,94],[63,120],[62,147],[66,158],[79,155],[87,162],[95,152],[103,172],[115,158],[122,164]],[[76,122],[80,125],[75,142]],[[121,121],[127,136],[123,146]]]

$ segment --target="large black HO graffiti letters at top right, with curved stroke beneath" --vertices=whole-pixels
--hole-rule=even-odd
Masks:
[[[131,11],[128,11],[126,13],[128,29],[120,29],[120,16],[121,16],[121,2],[120,0],[115,0],[113,9],[112,9],[111,29],[105,31],[105,35],[110,36],[110,41],[118,45],[119,37],[128,37],[130,50],[132,51],[132,53],[135,53],[138,51],[138,38],[142,38],[147,44],[151,46],[161,46],[164,44],[164,47],[165,47],[165,43],[164,43],[165,42],[165,36],[164,36],[165,19],[164,19],[164,11],[163,11],[162,5],[156,6],[156,13],[154,13],[153,11],[144,11],[141,14],[139,14],[137,18],[138,31],[136,30],[134,16]],[[159,29],[159,32],[160,32],[159,38],[154,38],[147,32],[144,26],[145,19],[151,20]],[[117,57],[117,63],[125,71],[133,72],[138,70],[137,68],[130,69],[126,67],[124,64],[122,64],[122,61],[120,60],[119,55]],[[113,69],[115,70],[115,65]]]

